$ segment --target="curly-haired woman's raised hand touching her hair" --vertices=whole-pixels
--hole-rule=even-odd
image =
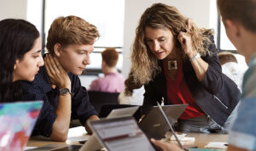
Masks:
[[[187,29],[186,29],[186,31],[180,32],[179,35],[177,36],[177,40],[180,42],[184,53],[186,53],[188,55],[189,59],[194,57],[195,54],[197,53],[194,50],[194,47],[193,47],[193,42],[192,42],[190,30],[191,30],[191,25],[190,25],[189,20],[187,20]]]

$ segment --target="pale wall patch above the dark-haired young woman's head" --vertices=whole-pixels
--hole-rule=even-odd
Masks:
[[[0,20],[26,20],[26,0],[0,0]]]

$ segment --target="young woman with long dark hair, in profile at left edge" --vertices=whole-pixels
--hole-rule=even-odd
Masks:
[[[0,102],[22,99],[19,81],[33,81],[44,65],[37,28],[26,20],[0,21]]]

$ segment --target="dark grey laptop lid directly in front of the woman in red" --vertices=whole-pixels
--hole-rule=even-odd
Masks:
[[[183,111],[187,106],[188,104],[165,105],[162,106],[162,109],[165,111],[168,120],[173,125],[178,117],[183,114]],[[152,107],[138,125],[148,138],[153,137],[154,139],[164,138],[166,132],[170,130],[170,127],[166,123],[158,106]]]

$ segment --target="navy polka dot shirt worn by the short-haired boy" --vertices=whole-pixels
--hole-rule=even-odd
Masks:
[[[97,115],[95,109],[89,102],[88,93],[85,87],[81,86],[79,76],[71,73],[68,74],[72,82],[72,90],[74,93],[72,98],[72,119],[79,119],[84,126],[86,120],[91,115]],[[49,82],[49,77],[45,67],[40,67],[38,75],[34,81],[21,81],[23,98],[26,101],[44,100],[43,108],[37,120],[37,124],[32,135],[43,135],[49,137],[52,132],[52,126],[55,122],[55,109],[58,104],[59,88],[53,89]]]

